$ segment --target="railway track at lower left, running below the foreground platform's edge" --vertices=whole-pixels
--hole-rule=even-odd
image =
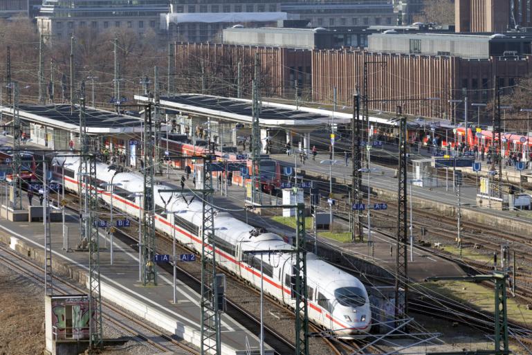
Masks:
[[[28,277],[34,282],[44,284],[44,268],[26,259],[26,257],[10,251],[8,246],[4,244],[0,244],[0,263],[5,264],[13,271]],[[60,295],[85,294],[86,289],[66,280],[64,277],[53,275],[53,292]],[[122,329],[122,331],[131,334],[132,339],[147,343],[149,347],[156,349],[158,352],[178,350],[180,353],[200,355],[199,351],[193,347],[185,345],[167,334],[163,334],[155,327],[147,325],[144,320],[138,320],[130,316],[127,312],[109,302],[102,301],[102,317],[108,322],[107,325],[112,324],[115,328]],[[138,329],[142,330],[139,331]]]

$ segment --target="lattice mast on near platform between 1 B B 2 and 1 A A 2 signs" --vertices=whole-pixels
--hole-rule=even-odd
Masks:
[[[157,68],[157,67],[156,67]],[[153,98],[149,97],[144,110],[144,263],[143,284],[157,284],[157,271],[153,262],[155,255],[155,199],[154,199],[154,136],[152,127]]]

